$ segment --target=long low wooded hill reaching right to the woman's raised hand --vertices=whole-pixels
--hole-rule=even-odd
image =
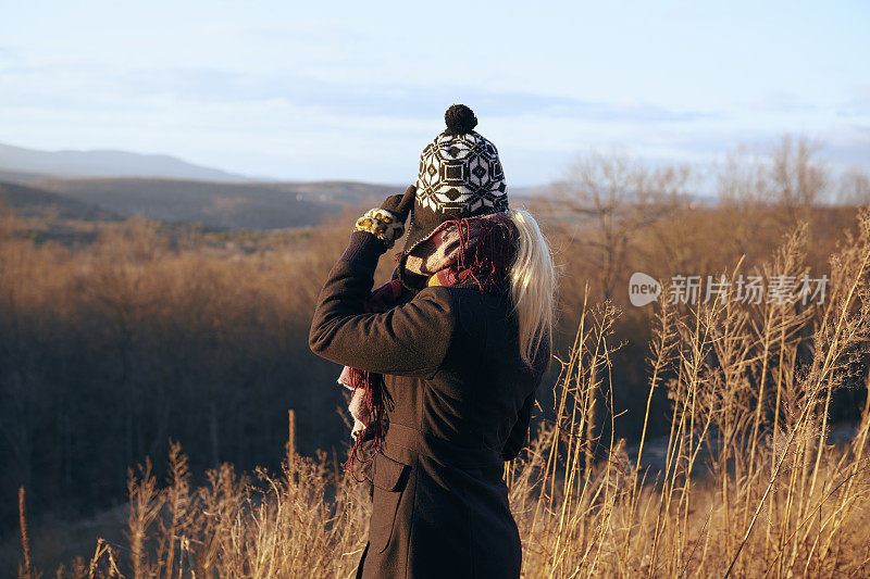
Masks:
[[[211,227],[315,225],[346,206],[377,204],[395,187],[341,181],[217,182],[183,179],[41,179],[34,187],[125,216]]]

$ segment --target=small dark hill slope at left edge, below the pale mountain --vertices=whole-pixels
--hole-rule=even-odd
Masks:
[[[59,217],[62,219],[113,221],[119,215],[91,203],[26,187],[0,182],[0,204],[22,217]]]

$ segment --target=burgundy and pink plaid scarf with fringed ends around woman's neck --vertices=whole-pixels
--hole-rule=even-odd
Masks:
[[[508,274],[517,250],[517,230],[507,213],[451,219],[440,224],[408,254],[406,269],[425,276],[428,286],[474,288],[487,293],[510,290]],[[408,297],[396,278],[372,291],[363,309],[366,313],[386,312]],[[364,441],[380,451],[384,439],[384,377],[345,366],[338,383],[352,391],[348,410],[353,417],[353,448],[345,468],[353,475],[353,463],[368,463],[372,455],[359,456]]]

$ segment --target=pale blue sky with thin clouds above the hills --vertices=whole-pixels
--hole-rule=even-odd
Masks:
[[[509,186],[786,133],[870,169],[870,0],[0,0],[7,144],[405,184],[455,102]]]

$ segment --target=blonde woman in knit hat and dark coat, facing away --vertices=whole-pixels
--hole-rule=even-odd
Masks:
[[[551,348],[554,267],[535,221],[508,209],[492,142],[464,105],[423,151],[417,186],[356,225],[309,342],[346,365],[357,444],[371,441],[358,577],[519,577],[502,480],[526,439]],[[393,279],[378,257],[402,235]]]

